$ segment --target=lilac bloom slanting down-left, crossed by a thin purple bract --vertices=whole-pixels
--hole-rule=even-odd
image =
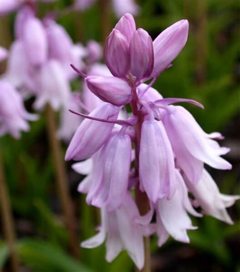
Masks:
[[[103,103],[90,113],[91,117],[115,120],[119,108],[108,103]],[[104,123],[85,119],[77,128],[68,146],[66,160],[84,160],[91,157],[107,141],[113,123]]]

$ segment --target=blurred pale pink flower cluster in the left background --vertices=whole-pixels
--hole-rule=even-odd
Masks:
[[[77,75],[69,64],[90,70],[101,58],[102,49],[95,41],[89,41],[86,48],[82,44],[74,44],[66,30],[48,15],[38,19],[36,1],[1,2],[0,15],[14,10],[18,10],[14,25],[15,40],[9,52],[0,48],[0,61],[8,58],[7,70],[1,75],[0,82],[3,92],[1,104],[5,105],[1,107],[1,134],[13,127],[15,132],[11,134],[19,137],[20,130],[28,129],[26,121],[20,122],[19,118],[35,119],[35,116],[20,112],[16,115],[12,95],[15,94],[22,109],[23,98],[33,95],[36,97],[33,105],[36,110],[42,110],[47,103],[55,111],[62,110],[58,135],[69,141],[82,120],[68,111],[69,107],[79,110],[75,94],[70,89],[70,80]],[[83,58],[87,64],[84,64]],[[87,88],[84,93],[92,94]],[[85,95],[86,99],[89,94]]]

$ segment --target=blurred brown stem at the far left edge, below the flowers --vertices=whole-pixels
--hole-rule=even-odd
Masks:
[[[4,165],[1,156],[1,150],[0,150],[0,201],[4,236],[8,243],[11,255],[11,271],[18,272],[19,263],[15,245],[14,223],[4,174]]]

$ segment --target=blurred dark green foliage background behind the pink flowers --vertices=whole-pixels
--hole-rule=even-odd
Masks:
[[[39,15],[70,4],[67,0],[41,4]],[[189,38],[184,50],[173,67],[159,76],[154,87],[164,97],[195,99],[205,105],[204,111],[187,107],[207,132],[221,131],[226,136],[223,145],[232,149],[226,158],[233,169],[225,172],[211,169],[211,174],[222,193],[239,194],[239,1],[139,0],[138,4],[141,13],[136,18],[137,25],[146,29],[153,39],[177,20],[189,20]],[[103,43],[100,11],[100,4],[96,3],[82,13],[64,15],[58,22],[74,41],[86,44],[88,39],[95,39]],[[0,18],[2,46],[8,46],[13,39],[14,17],[15,14],[10,14]],[[110,11],[109,30],[116,21]],[[73,85],[78,86],[78,82]],[[27,101],[26,106],[30,108],[31,103]],[[79,248],[79,260],[70,255],[56,195],[44,114],[31,123],[30,132],[23,133],[21,140],[7,135],[0,141],[21,271],[135,271],[126,252],[107,263],[104,245],[91,250]],[[66,145],[62,143],[62,146],[64,156]],[[96,233],[98,216],[93,207],[85,204],[85,196],[76,192],[81,176],[71,170],[70,164],[67,163],[69,188],[78,218],[80,242]],[[199,228],[188,232],[189,245],[169,239],[162,248],[157,248],[156,237],[151,238],[152,271],[239,271],[239,211],[239,202],[229,209],[235,221],[231,226],[209,216],[193,218]],[[10,271],[8,265],[9,251],[1,236],[1,271]]]

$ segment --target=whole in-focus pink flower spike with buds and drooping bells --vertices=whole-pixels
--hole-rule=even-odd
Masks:
[[[141,269],[143,237],[153,233],[158,235],[158,246],[169,236],[188,243],[187,230],[196,228],[188,213],[202,216],[193,206],[232,223],[226,207],[238,197],[221,194],[204,169],[205,163],[231,169],[221,158],[229,149],[216,142],[222,135],[206,133],[186,109],[171,104],[203,105],[163,98],[152,87],[183,49],[187,35],[188,21],[181,20],[152,41],[144,29],[136,30],[133,16],[125,14],[105,42],[105,63],[112,75],[86,75],[73,66],[103,102],[89,115],[72,111],[86,119],[77,128],[65,159],[81,161],[73,164],[74,170],[87,175],[78,191],[87,194],[89,205],[101,208],[100,232],[82,246],[96,247],[106,239],[107,261],[126,249]],[[134,201],[139,190],[149,201],[144,215]]]

